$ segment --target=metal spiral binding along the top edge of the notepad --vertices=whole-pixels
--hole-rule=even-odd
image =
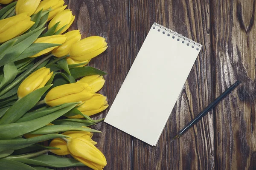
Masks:
[[[196,47],[196,50],[200,50],[202,48],[202,45],[199,44],[198,42],[195,42],[181,34],[178,34],[177,32],[175,31],[172,31],[171,29],[169,28],[166,28],[164,26],[161,26],[160,24],[158,23],[154,23],[153,25],[153,29],[156,29],[157,28],[157,31],[158,32],[162,32],[163,34],[166,34],[167,33],[167,36],[168,37],[172,37],[172,39],[177,39],[177,41],[180,41],[181,40],[181,43],[185,44],[187,46],[191,45],[191,48],[195,48]]]

